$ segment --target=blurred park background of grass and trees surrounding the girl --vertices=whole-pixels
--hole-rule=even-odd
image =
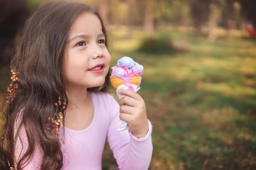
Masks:
[[[47,1],[0,2],[1,105],[23,23]],[[254,0],[80,1],[103,16],[111,65],[130,56],[144,66],[149,170],[256,170],[256,37],[245,31],[256,27]],[[102,168],[117,168],[107,143]]]

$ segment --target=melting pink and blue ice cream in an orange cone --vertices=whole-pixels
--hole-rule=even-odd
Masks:
[[[133,85],[139,87],[143,66],[132,60],[130,57],[122,57],[117,60],[117,66],[112,67],[110,82],[115,88],[125,85],[129,90],[134,91]],[[133,84],[133,85],[132,85]]]

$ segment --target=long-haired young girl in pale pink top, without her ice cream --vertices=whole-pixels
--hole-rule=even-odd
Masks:
[[[78,2],[41,6],[13,57],[0,169],[101,170],[106,138],[120,170],[146,170],[151,124],[140,95],[119,103],[109,88],[110,54],[97,12]],[[121,107],[120,107],[120,106]],[[120,121],[129,130],[117,132]]]

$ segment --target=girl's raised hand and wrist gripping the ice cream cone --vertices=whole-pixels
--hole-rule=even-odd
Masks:
[[[129,130],[135,137],[145,137],[148,133],[148,119],[144,100],[134,91],[120,89],[118,92],[126,95],[119,100],[119,118],[128,123]]]

